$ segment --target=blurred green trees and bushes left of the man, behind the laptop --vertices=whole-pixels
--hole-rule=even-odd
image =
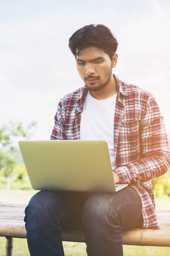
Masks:
[[[36,122],[31,122],[26,128],[23,127],[22,123],[14,124],[12,121],[9,125],[4,124],[0,128],[0,144],[2,147],[6,146],[9,150],[8,145],[12,145],[14,137],[24,137],[29,139],[33,135],[33,131],[36,128]],[[15,147],[11,146],[9,152],[0,151],[0,188],[6,186],[7,189],[20,187],[20,188],[30,188],[28,182],[28,175],[24,167],[18,167],[16,158],[14,157],[16,153]],[[22,161],[21,161],[22,162]],[[22,164],[23,165],[23,164]],[[19,171],[20,169],[20,171]],[[23,184],[25,184],[23,186]],[[15,185],[15,186],[13,186]]]

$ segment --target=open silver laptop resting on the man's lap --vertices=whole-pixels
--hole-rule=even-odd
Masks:
[[[31,186],[35,190],[114,193],[107,141],[19,141]]]

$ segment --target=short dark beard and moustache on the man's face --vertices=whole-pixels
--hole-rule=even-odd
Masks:
[[[97,91],[101,90],[102,88],[104,88],[109,83],[109,80],[110,80],[112,75],[113,74],[112,74],[112,69],[111,69],[111,71],[107,74],[107,77],[106,77],[106,79],[103,83],[99,83],[98,85],[95,85],[95,83],[85,83],[85,86],[86,86],[87,89],[89,89],[89,91],[97,92]],[[86,81],[86,79],[93,79],[93,78],[94,79],[100,79],[100,76],[96,76],[96,77],[92,76],[92,75],[87,76],[85,78],[85,81]]]

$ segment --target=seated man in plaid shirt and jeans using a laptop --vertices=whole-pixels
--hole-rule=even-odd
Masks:
[[[69,47],[85,86],[59,102],[51,139],[107,140],[115,182],[129,186],[116,193],[35,194],[25,217],[31,256],[63,256],[62,230],[80,227],[88,256],[121,256],[121,231],[159,228],[150,180],[169,168],[166,130],[153,95],[112,74],[117,46],[103,25],[85,26],[71,36]]]

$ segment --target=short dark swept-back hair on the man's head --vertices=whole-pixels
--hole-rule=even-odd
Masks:
[[[101,48],[109,57],[113,58],[118,42],[108,27],[104,25],[87,25],[78,29],[69,39],[72,54],[76,57],[77,49],[85,49],[89,46]]]

